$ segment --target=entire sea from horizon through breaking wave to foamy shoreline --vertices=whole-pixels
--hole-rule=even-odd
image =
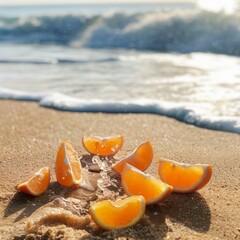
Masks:
[[[0,98],[240,133],[239,23],[193,4],[0,7]]]

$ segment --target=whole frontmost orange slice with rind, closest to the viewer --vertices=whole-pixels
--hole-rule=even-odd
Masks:
[[[100,228],[111,230],[136,224],[142,218],[145,207],[142,196],[133,196],[116,202],[104,200],[94,203],[89,213]]]

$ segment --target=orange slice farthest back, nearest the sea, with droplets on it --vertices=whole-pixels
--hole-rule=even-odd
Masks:
[[[94,155],[100,156],[113,156],[123,146],[123,136],[113,137],[83,137],[83,146],[85,149]]]

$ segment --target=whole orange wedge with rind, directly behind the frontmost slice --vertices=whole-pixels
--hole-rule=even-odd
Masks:
[[[147,205],[164,201],[173,189],[172,186],[129,164],[122,172],[121,182],[127,195],[142,195]]]

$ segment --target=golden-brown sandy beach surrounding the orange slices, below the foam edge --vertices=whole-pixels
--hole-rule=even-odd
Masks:
[[[240,239],[239,135],[157,115],[61,112],[29,102],[2,100],[0,116],[0,239]],[[154,161],[148,172],[154,176],[161,156],[211,163],[212,179],[197,193],[172,194],[160,206],[148,207],[144,219],[128,229],[89,231],[60,219],[24,233],[28,218],[62,191],[54,174],[59,140],[71,140],[84,155],[84,135],[116,134],[125,138],[118,159],[152,141]],[[49,190],[35,198],[17,193],[16,185],[44,166],[52,172]]]

